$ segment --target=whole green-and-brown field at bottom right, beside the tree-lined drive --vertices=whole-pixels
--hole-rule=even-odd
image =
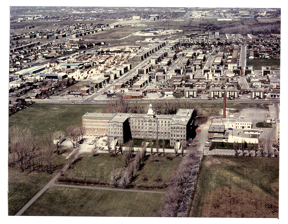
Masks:
[[[205,156],[190,217],[278,217],[279,159]]]

